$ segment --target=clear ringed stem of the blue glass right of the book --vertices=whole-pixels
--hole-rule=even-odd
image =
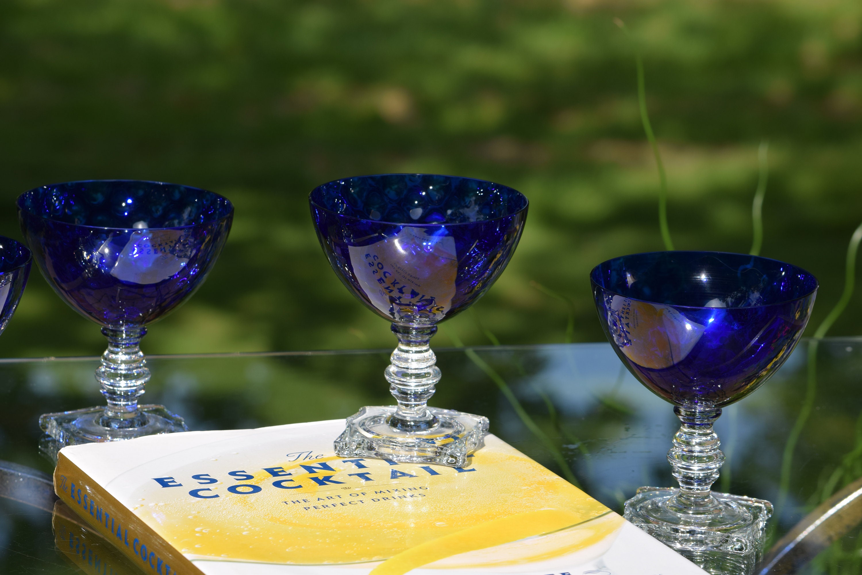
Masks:
[[[671,497],[667,506],[693,515],[719,513],[721,503],[712,497],[710,489],[724,463],[721,441],[712,428],[721,409],[697,405],[677,406],[673,411],[683,424],[673,436],[667,460],[679,482],[679,493]]]

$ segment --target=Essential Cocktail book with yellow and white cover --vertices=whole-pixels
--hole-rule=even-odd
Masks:
[[[158,575],[703,575],[494,435],[463,468],[343,458],[344,420],[64,447],[59,498]]]

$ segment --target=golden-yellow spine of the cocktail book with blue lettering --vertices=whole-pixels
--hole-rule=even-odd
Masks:
[[[54,491],[105,541],[157,575],[204,575],[145,522],[59,453]]]

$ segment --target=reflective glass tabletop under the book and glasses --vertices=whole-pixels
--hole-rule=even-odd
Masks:
[[[714,487],[775,503],[771,541],[862,475],[862,338],[817,342],[814,371],[812,345],[803,340],[775,377],[716,424],[727,461]],[[675,484],[665,459],[679,427],[671,405],[623,369],[609,344],[435,352],[443,378],[432,405],[488,416],[492,433],[611,509],[622,513],[641,485]],[[334,419],[392,403],[383,378],[388,351],[147,362],[153,379],[143,402],[163,403],[193,430]],[[0,572],[140,572],[70,510],[54,508],[46,481],[52,465],[37,448],[39,415],[103,403],[97,365],[97,358],[0,360],[0,459],[10,462],[0,468]],[[788,449],[801,412],[809,415]],[[16,483],[19,475],[29,491]],[[858,573],[860,552],[853,527],[800,572]]]

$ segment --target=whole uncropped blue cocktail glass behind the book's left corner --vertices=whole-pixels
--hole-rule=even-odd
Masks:
[[[94,180],[27,191],[18,216],[48,284],[108,338],[96,372],[107,406],[41,416],[53,445],[43,448],[184,431],[163,406],[138,405],[150,378],[140,342],[203,284],[228,239],[231,203],[184,185]]]

